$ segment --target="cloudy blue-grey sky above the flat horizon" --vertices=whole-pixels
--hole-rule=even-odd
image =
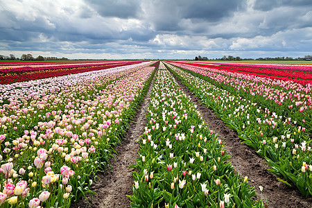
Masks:
[[[309,0],[0,0],[0,19],[19,58],[312,55]]]

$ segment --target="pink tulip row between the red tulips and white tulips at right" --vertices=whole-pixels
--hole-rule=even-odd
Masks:
[[[312,132],[312,85],[300,85],[290,81],[260,78],[211,68],[191,67],[173,63],[177,67],[200,73],[209,83],[232,94],[259,103],[271,112],[291,117],[299,125]]]

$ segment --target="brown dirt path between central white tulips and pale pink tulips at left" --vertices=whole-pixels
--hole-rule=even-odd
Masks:
[[[98,173],[96,182],[92,184],[91,190],[98,195],[93,196],[91,204],[88,204],[86,200],[79,200],[79,202],[73,203],[71,208],[130,207],[130,200],[127,195],[132,195],[132,186],[134,184],[132,171],[135,170],[128,167],[135,164],[135,159],[139,157],[137,153],[139,144],[136,141],[144,133],[146,112],[149,104],[147,98],[150,96],[154,80],[155,76],[148,88],[144,102],[141,103],[137,110],[134,121],[132,121],[130,128],[125,132],[122,144],[116,147],[116,152],[118,153],[116,161],[110,159],[112,167]],[[91,201],[90,197],[88,199]]]

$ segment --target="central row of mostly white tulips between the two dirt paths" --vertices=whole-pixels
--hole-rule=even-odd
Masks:
[[[151,95],[131,207],[263,207],[162,62]]]

